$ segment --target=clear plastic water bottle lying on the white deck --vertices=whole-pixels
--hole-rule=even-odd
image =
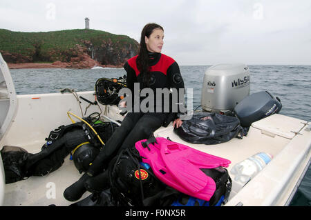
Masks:
[[[234,165],[231,173],[235,175],[234,181],[238,181],[243,186],[258,174],[272,160],[273,156],[265,152],[254,154],[252,157]]]

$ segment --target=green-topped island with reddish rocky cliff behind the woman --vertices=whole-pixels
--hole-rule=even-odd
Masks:
[[[0,29],[0,52],[10,68],[122,67],[138,54],[126,35],[101,30],[13,32]]]

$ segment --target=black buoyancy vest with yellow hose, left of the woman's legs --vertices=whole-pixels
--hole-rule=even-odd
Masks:
[[[90,114],[90,116],[93,114]],[[93,129],[83,121],[78,121],[68,126],[59,126],[59,128],[50,132],[48,138],[46,138],[47,142],[42,148],[53,151],[53,153],[48,154],[48,157],[45,157],[44,160],[41,159],[39,163],[36,164],[35,172],[33,172],[32,175],[42,176],[57,170],[57,168],[62,166],[64,158],[69,153],[71,154],[70,159],[73,159],[75,167],[79,172],[88,169],[90,163],[103,147],[100,140],[106,143],[117,127],[115,123],[99,121],[99,117],[90,116],[84,118],[84,121],[92,126],[99,137],[97,137]],[[55,139],[55,137],[57,138]],[[52,143],[48,144],[49,142]],[[41,152],[42,151],[43,150],[41,150]]]

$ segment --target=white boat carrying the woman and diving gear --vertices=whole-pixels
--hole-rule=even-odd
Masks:
[[[58,126],[70,124],[67,112],[82,117],[77,99],[70,93],[23,94],[15,93],[10,70],[0,55],[0,148],[19,146],[28,152],[37,153],[45,143],[49,132]],[[90,101],[95,101],[93,91],[77,92]],[[82,101],[84,111],[88,103]],[[124,119],[117,106],[103,106],[102,114],[114,120]],[[98,106],[88,108],[86,114],[100,112]],[[225,206],[288,206],[310,164],[310,123],[283,114],[252,123],[247,137],[232,139],[217,145],[191,144],[182,141],[173,132],[172,123],[159,128],[156,137],[169,137],[202,152],[214,154],[232,161],[232,167],[256,154],[269,152],[272,161],[245,186],[232,177],[232,192]],[[68,156],[69,157],[69,156]],[[69,158],[55,172],[45,177],[30,177],[15,183],[5,183],[3,163],[0,163],[0,205],[2,206],[68,206],[63,192],[81,174]],[[2,159],[1,159],[2,161]],[[81,199],[87,197],[87,192]]]

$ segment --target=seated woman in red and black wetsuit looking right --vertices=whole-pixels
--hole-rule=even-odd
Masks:
[[[138,92],[134,90],[135,83],[138,83],[136,86],[139,86],[140,91],[144,88],[153,91],[153,104],[148,105],[148,109],[152,110],[146,112],[138,108],[138,111],[135,111],[135,105],[138,104],[138,107],[140,107],[140,103],[150,97],[144,99],[141,97],[138,99],[139,103],[122,103],[123,106],[125,104],[126,106],[133,106],[134,111],[126,114],[121,126],[107,141],[100,154],[88,168],[88,171],[64,191],[64,197],[67,200],[76,201],[82,197],[82,194],[86,192],[86,188],[90,188],[86,185],[91,184],[92,179],[96,179],[95,177],[108,167],[111,159],[122,149],[129,148],[142,139],[148,139],[155,130],[161,126],[167,126],[169,121],[173,120],[173,126],[176,126],[176,128],[181,126],[182,121],[177,118],[177,112],[172,111],[172,105],[178,105],[180,102],[172,103],[172,100],[169,99],[169,103],[167,103],[166,99],[162,99],[162,94],[157,94],[157,89],[169,90],[176,88],[180,90],[185,88],[176,61],[160,53],[163,38],[163,28],[156,23],[148,23],[142,29],[138,56],[132,57],[124,64],[126,86],[131,90],[132,96],[135,92]],[[161,102],[156,101],[159,99]],[[134,100],[134,97],[132,100]],[[164,111],[167,105],[169,105],[169,112]],[[93,181],[93,184],[96,183]]]

